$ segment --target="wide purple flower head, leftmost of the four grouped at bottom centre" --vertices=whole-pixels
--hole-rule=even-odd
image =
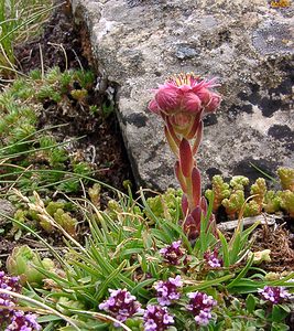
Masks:
[[[110,312],[113,318],[124,322],[135,313],[142,313],[141,305],[127,289],[109,289],[110,297],[99,305],[99,309]]]

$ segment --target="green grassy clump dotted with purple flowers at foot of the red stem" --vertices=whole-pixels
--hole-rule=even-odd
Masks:
[[[19,196],[62,231],[67,243],[61,255],[31,229],[59,264],[55,270],[35,266],[44,275],[44,287],[23,291],[48,311],[66,316],[66,320],[44,317],[46,328],[67,330],[74,321],[80,330],[115,330],[113,323],[124,330],[148,330],[146,317],[163,309],[172,317],[171,323],[155,330],[287,330],[293,273],[266,274],[254,266],[248,238],[257,224],[248,229],[240,225],[229,242],[221,233],[214,234],[209,226],[211,201],[192,245],[178,220],[166,220],[162,206],[145,199],[143,191],[141,203],[131,193],[119,194],[116,206],[112,203],[106,211],[88,199],[74,199],[72,203],[89,224],[85,244],[80,244],[48,213],[37,194],[33,202]],[[181,202],[174,200],[170,207],[177,210]],[[119,298],[124,296],[122,319]],[[206,309],[206,319],[202,309]]]

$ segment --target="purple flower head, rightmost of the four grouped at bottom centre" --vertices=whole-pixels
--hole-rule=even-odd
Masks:
[[[189,298],[187,309],[194,314],[196,323],[207,325],[211,319],[211,309],[217,305],[217,301],[211,296],[198,291],[187,296]]]

